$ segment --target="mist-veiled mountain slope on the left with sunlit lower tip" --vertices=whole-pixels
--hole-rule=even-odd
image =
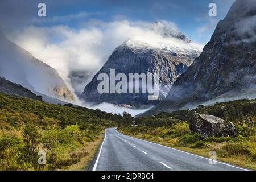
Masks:
[[[0,32],[0,76],[31,91],[61,100],[74,100],[59,74]]]

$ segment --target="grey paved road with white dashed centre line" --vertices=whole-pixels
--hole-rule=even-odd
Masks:
[[[174,148],[129,137],[106,129],[93,170],[245,170],[227,163],[209,164],[209,159]]]

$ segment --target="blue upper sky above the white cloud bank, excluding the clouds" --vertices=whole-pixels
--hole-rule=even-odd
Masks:
[[[37,18],[37,5],[44,2],[47,5],[47,18]],[[217,17],[208,16],[208,5],[217,4]],[[0,2],[1,27],[3,23],[10,26],[56,26],[65,25],[71,28],[81,26],[82,22],[101,20],[112,22],[117,19],[131,21],[154,22],[168,20],[174,22],[179,29],[194,42],[205,44],[210,40],[218,20],[223,19],[234,0],[94,0],[94,1],[14,1]],[[73,15],[73,16],[72,16]],[[73,18],[65,21],[47,21],[53,17]],[[36,22],[31,19],[38,19]],[[6,23],[8,21],[8,23]],[[83,24],[84,26],[84,24]],[[6,29],[6,28],[5,28]]]

